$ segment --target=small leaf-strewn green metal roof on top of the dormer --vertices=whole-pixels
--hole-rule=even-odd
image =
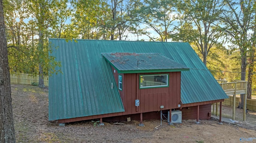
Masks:
[[[111,53],[102,56],[118,73],[189,71],[187,67],[159,53]]]

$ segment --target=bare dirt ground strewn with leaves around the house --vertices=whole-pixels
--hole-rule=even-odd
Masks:
[[[218,120],[183,120],[168,125],[160,120],[104,122],[80,121],[59,126],[48,121],[48,89],[12,84],[12,104],[17,143],[256,143],[256,113],[246,122],[218,124]],[[232,117],[232,108],[222,106],[222,115]],[[236,109],[236,120],[242,121],[242,110]],[[94,124],[95,123],[95,124]],[[157,127],[159,126],[159,127]],[[240,141],[241,139],[241,141]]]

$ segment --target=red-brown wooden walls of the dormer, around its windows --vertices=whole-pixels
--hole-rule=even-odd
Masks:
[[[140,74],[118,74],[112,68],[116,83],[118,75],[122,75],[122,90],[119,90],[124,105],[123,115],[137,114],[178,108],[180,104],[180,72],[157,72],[146,74],[169,74],[169,87],[139,89]],[[118,86],[118,84],[117,84]],[[140,106],[135,106],[135,100],[140,100]]]

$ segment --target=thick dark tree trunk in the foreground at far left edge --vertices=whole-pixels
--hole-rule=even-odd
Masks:
[[[3,3],[0,0],[0,142],[15,143]]]

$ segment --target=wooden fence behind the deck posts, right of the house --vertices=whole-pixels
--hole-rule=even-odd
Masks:
[[[236,107],[239,104],[240,97],[236,97]],[[225,99],[224,102],[222,102],[223,105],[233,106],[233,96],[229,96],[229,98]],[[256,111],[256,100],[253,99],[247,99],[246,100],[246,107],[248,110]]]

